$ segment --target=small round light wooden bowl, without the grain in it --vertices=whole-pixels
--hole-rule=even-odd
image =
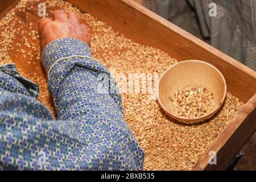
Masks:
[[[214,105],[210,113],[200,117],[186,118],[175,113],[170,100],[176,90],[183,86],[200,84],[213,93]],[[220,109],[226,97],[226,81],[224,76],[213,65],[204,61],[181,61],[168,68],[160,77],[157,88],[157,98],[162,109],[177,121],[192,124],[202,122],[212,117]]]

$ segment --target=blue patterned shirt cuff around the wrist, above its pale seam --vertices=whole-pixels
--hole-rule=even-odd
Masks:
[[[92,58],[88,44],[72,38],[53,40],[43,49],[41,60],[49,75],[58,61],[72,57]]]

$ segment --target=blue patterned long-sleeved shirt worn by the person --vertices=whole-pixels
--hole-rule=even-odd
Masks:
[[[36,100],[38,85],[14,64],[0,67],[0,169],[141,170],[144,153],[125,122],[113,78],[88,45],[54,40],[42,63],[57,121]]]

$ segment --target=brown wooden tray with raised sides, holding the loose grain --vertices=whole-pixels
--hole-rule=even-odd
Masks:
[[[0,0],[0,18],[5,16],[17,2],[18,0]],[[68,2],[82,12],[92,14],[102,22],[108,23],[134,42],[162,49],[177,60],[207,61],[222,72],[228,92],[246,104],[210,144],[192,169],[225,169],[256,129],[256,72],[132,0],[68,0]],[[35,22],[34,19],[31,21]],[[14,55],[15,52],[10,56],[15,57]],[[35,70],[34,65],[23,64],[22,60],[22,55],[14,58],[17,67],[32,75]],[[42,78],[46,77],[42,65],[38,75]],[[217,152],[216,165],[209,164],[209,151]]]

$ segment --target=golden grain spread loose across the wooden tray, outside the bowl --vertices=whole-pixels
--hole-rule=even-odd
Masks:
[[[159,49],[126,39],[93,16],[80,13],[67,2],[55,0],[47,3],[49,16],[53,9],[60,8],[79,14],[81,20],[90,28],[93,56],[106,67],[115,69],[115,72],[125,73],[127,77],[129,73],[160,75],[177,62]],[[36,36],[36,22],[39,19],[36,16],[37,5],[38,1],[22,0],[1,20],[1,64],[15,62],[18,68],[24,68],[26,64],[26,69],[20,69],[20,72],[40,85],[39,100],[54,113],[52,100],[47,91],[46,76],[39,58],[39,40]],[[20,24],[19,20],[22,21]],[[16,34],[17,30],[24,35]],[[15,49],[19,51],[16,52]],[[148,93],[122,93],[125,119],[146,154],[146,170],[191,169],[242,106],[238,98],[228,93],[222,109],[209,122],[188,126],[168,118],[158,103],[148,99],[149,97]]]

